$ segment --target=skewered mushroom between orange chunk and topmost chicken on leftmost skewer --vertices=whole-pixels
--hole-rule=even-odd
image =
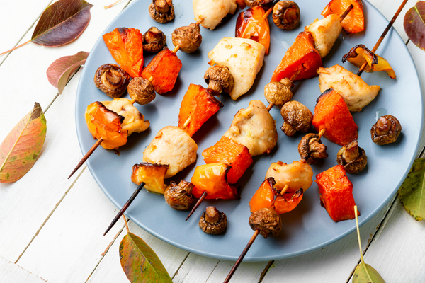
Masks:
[[[176,28],[171,37],[174,46],[179,46],[180,50],[186,53],[195,52],[202,43],[200,28],[196,23]]]

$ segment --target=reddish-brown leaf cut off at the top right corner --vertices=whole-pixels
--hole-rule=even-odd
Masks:
[[[404,31],[409,39],[425,50],[425,1],[418,1],[404,16]]]

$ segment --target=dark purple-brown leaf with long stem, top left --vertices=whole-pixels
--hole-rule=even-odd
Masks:
[[[76,40],[90,22],[90,3],[84,0],[59,0],[48,6],[35,26],[33,36],[28,42],[47,47],[58,47]],[[26,45],[13,47],[1,53],[6,54]]]

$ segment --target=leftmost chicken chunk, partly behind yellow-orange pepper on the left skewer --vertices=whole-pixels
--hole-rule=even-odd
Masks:
[[[145,116],[127,98],[114,98],[111,101],[102,101],[102,104],[124,117],[121,129],[128,131],[129,136],[134,132],[145,131],[150,125],[148,120],[145,121]]]

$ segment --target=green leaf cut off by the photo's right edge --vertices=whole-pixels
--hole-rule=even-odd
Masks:
[[[425,218],[425,158],[414,161],[398,195],[404,209],[416,221]]]

